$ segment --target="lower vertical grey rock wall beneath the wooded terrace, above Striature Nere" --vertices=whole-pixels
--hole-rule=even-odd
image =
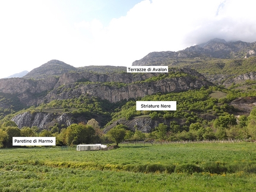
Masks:
[[[155,93],[183,92],[189,89],[200,89],[202,86],[208,86],[206,80],[199,80],[194,77],[174,77],[149,83],[132,83],[123,87],[108,86],[104,84],[72,84],[64,86],[60,91],[52,90],[48,95],[38,100],[38,105],[43,100],[51,99],[70,99],[73,96],[89,95],[107,99],[110,102],[119,102],[124,99],[143,97]]]

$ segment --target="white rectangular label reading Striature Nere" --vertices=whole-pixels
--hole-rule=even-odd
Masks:
[[[176,111],[176,101],[136,101],[136,111]]]

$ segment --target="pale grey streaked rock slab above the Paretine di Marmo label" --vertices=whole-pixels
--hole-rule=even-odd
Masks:
[[[34,112],[31,114],[30,112],[24,112],[23,114],[13,117],[11,121],[14,121],[19,128],[36,126],[39,129],[47,129],[54,126],[56,123],[58,125],[64,125],[64,127],[68,127],[73,123],[87,122],[83,117],[72,117],[73,115],[66,113],[52,114],[46,112]]]

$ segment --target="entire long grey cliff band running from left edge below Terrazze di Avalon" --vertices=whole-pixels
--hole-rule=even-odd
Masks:
[[[0,93],[17,95],[24,105],[40,105],[54,99],[70,99],[80,95],[100,97],[118,102],[123,99],[143,97],[155,93],[182,92],[207,86],[205,77],[191,69],[171,69],[169,73],[188,74],[185,77],[166,78],[150,83],[138,83],[159,73],[65,73],[60,77],[40,80],[6,78],[0,80]],[[104,85],[105,82],[127,84],[123,87]]]

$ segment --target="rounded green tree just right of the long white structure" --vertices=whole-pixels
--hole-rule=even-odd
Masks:
[[[118,143],[124,140],[124,137],[126,136],[126,128],[127,127],[125,125],[120,124],[108,131],[108,136],[110,136],[117,146]]]

